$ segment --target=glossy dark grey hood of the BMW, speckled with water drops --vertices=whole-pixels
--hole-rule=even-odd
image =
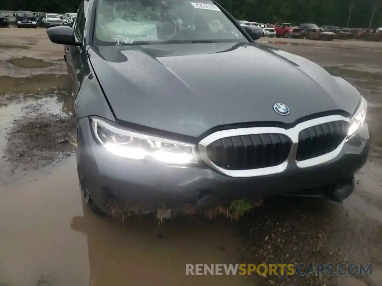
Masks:
[[[353,114],[359,103],[359,93],[345,93],[317,64],[255,42],[87,52],[119,120],[193,137],[219,125]],[[290,114],[277,114],[275,103],[286,104]]]

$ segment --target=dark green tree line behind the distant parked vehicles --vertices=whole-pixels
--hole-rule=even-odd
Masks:
[[[76,12],[81,0],[0,0],[0,10]],[[236,19],[262,23],[382,26],[382,0],[218,0]]]

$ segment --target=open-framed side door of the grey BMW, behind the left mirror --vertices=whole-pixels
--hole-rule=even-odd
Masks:
[[[83,43],[85,30],[84,5],[81,3],[78,9],[78,16],[73,25],[74,37],[76,42]],[[73,100],[76,99],[80,84],[83,80],[83,64],[81,56],[86,53],[82,46],[65,46],[66,67],[68,69],[70,91]]]

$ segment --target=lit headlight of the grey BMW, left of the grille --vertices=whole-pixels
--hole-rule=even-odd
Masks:
[[[110,153],[143,160],[153,158],[168,164],[197,162],[195,145],[121,129],[101,119],[92,118],[95,137]]]

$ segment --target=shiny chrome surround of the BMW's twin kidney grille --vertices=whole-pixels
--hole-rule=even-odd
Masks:
[[[295,127],[292,127],[290,129],[283,129],[280,127],[248,127],[248,128],[221,130],[221,131],[217,131],[208,135],[207,137],[205,137],[199,142],[198,144],[199,154],[201,158],[203,159],[203,161],[206,162],[206,164],[208,164],[213,169],[229,177],[236,177],[236,178],[258,177],[258,176],[282,173],[286,170],[289,164],[295,164],[299,168],[312,167],[315,165],[325,163],[337,157],[337,155],[341,152],[343,145],[346,142],[346,138],[340,143],[340,145],[338,145],[337,148],[335,148],[333,151],[329,153],[326,153],[324,155],[317,156],[311,159],[297,161],[296,153],[298,148],[299,133],[302,130],[307,129],[308,127],[313,127],[315,125],[324,124],[324,123],[333,122],[333,121],[345,121],[348,124],[350,124],[350,119],[348,117],[344,117],[341,115],[331,115],[331,116],[318,117],[315,119],[301,122],[295,125]],[[277,166],[264,167],[259,169],[249,169],[249,170],[228,170],[228,169],[224,169],[215,165],[210,160],[209,156],[207,155],[207,146],[216,140],[226,138],[226,137],[252,135],[252,134],[264,134],[264,133],[284,134],[288,136],[293,142],[289,156],[284,162],[282,162],[281,164]]]

